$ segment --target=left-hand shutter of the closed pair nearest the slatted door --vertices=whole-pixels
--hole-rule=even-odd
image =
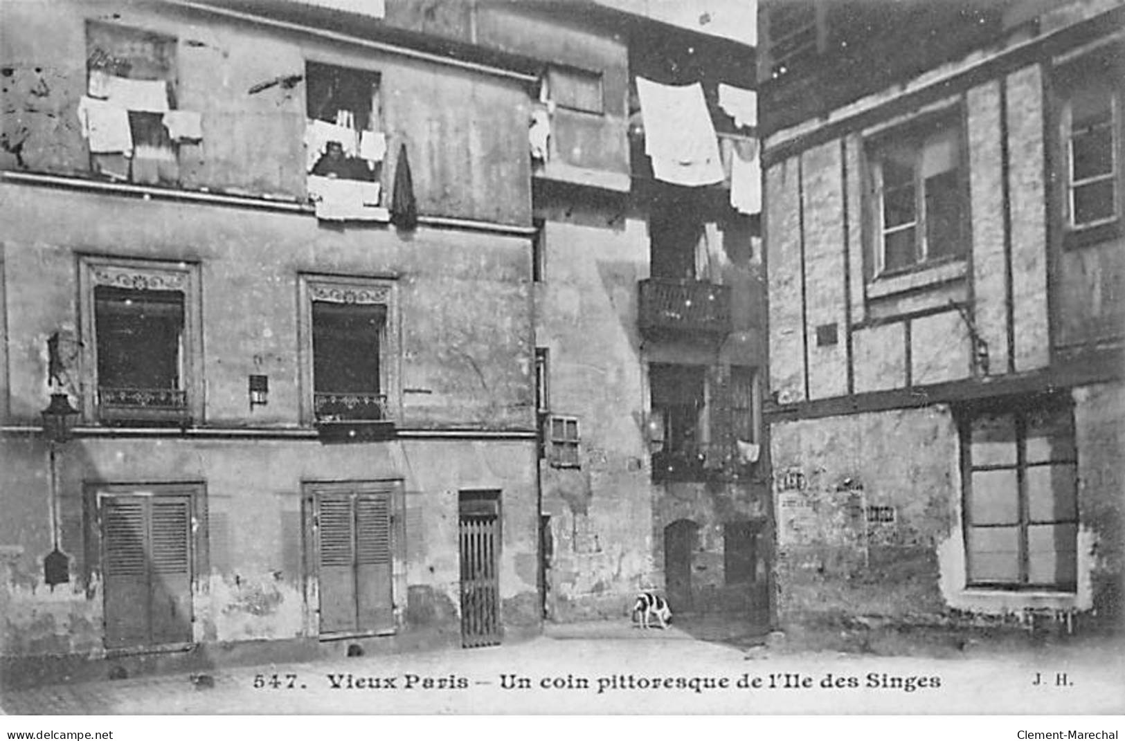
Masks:
[[[321,632],[357,629],[354,517],[350,494],[317,497]]]

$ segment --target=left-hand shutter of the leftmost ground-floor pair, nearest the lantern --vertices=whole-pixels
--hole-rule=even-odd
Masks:
[[[106,647],[148,642],[148,562],[145,500],[107,497],[102,501],[102,571]]]

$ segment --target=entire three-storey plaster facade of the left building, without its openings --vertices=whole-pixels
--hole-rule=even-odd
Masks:
[[[178,191],[142,198],[88,184],[74,116],[86,84],[83,55],[55,55],[47,65],[36,54],[84,49],[83,24],[94,17],[176,35],[178,103],[202,112],[205,133],[200,146],[181,148],[180,184],[281,201],[305,198],[304,93],[274,85],[250,94],[250,87],[303,72],[306,58],[376,70],[389,148],[408,144],[420,210],[502,224],[530,222],[526,91],[495,75],[183,9],[19,3],[6,4],[3,15],[0,168],[78,177],[64,188],[0,183],[0,501],[7,515],[0,522],[0,656],[106,653],[94,524],[83,507],[98,482],[205,487],[206,523],[197,525],[206,530],[208,559],[192,586],[196,642],[315,643],[317,585],[302,487],[328,480],[403,482],[406,558],[394,595],[399,638],[459,634],[458,493],[498,490],[502,622],[510,632],[537,630],[529,240],[511,229],[330,226],[268,201],[254,208],[184,202]],[[43,43],[47,37],[51,44]],[[81,329],[80,255],[198,265],[202,416],[186,432],[125,433],[80,419],[76,437],[56,450],[52,497],[48,449],[36,432],[48,397],[48,336],[61,333],[71,349],[64,362],[72,400],[82,406],[94,392],[90,369],[82,368],[81,343],[92,338]],[[310,392],[300,382],[307,352],[298,327],[302,274],[393,281],[397,440],[325,444],[302,419]],[[267,405],[249,405],[250,374],[269,377]],[[54,533],[70,557],[71,579],[52,589],[44,585],[43,558]]]

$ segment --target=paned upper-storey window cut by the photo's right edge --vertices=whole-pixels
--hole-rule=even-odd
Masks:
[[[1122,53],[1115,45],[1055,70],[1065,188],[1060,200],[1068,246],[1120,233]]]

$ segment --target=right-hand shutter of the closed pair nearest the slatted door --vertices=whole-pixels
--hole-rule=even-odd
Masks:
[[[356,498],[356,594],[360,630],[394,626],[390,586],[390,497]]]

